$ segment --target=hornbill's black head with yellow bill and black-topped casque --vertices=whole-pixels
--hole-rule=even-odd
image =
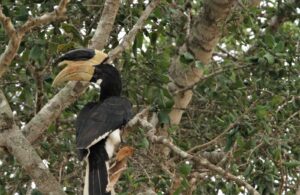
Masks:
[[[91,49],[73,50],[60,57],[60,65],[67,65],[54,79],[52,86],[66,81],[88,81],[101,87],[100,100],[120,96],[122,83],[119,71],[105,63],[107,54]]]

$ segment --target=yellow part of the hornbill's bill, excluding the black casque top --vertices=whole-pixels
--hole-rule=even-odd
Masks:
[[[52,86],[59,86],[65,81],[90,81],[94,75],[95,65],[101,64],[107,54],[96,51],[88,60],[63,60],[58,66],[67,65],[54,79]]]

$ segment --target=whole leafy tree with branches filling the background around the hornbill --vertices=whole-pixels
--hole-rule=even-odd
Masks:
[[[109,53],[139,113],[120,194],[299,193],[299,7],[1,1],[0,194],[81,193],[73,122],[97,86],[51,87],[79,47]]]

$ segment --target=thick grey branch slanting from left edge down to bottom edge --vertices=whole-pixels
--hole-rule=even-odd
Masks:
[[[0,90],[0,127],[0,137],[5,137],[5,147],[36,182],[39,190],[45,194],[65,194],[14,123],[12,111],[2,90]]]

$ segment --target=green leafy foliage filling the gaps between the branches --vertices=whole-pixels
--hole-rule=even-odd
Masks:
[[[228,19],[212,63],[197,66],[204,70],[205,79],[193,89],[193,102],[185,110],[181,124],[170,127],[169,133],[174,143],[189,150],[212,140],[234,124],[217,143],[193,152],[224,151],[226,159],[221,165],[245,178],[262,194],[283,191],[295,194],[300,184],[300,13],[296,4],[278,2],[262,1],[260,8],[241,8],[242,11],[238,10]],[[51,11],[57,3],[54,0],[3,0],[1,5],[3,12],[18,26],[28,17]],[[103,3],[71,1],[66,22],[54,22],[26,36],[10,72],[0,81],[18,125],[24,126],[40,109],[37,105],[45,104],[57,93],[58,89],[51,87],[60,69],[53,64],[54,59],[70,49],[87,46]],[[185,1],[161,3],[137,35],[132,48],[116,62],[122,67],[124,95],[137,110],[152,105],[158,110],[162,125],[169,123],[168,112],[173,106],[167,88],[168,68],[185,41],[187,13],[196,15],[201,6],[202,1],[193,1],[191,7]],[[289,15],[277,29],[271,28],[269,22],[285,13],[285,7]],[[123,1],[106,51],[119,44],[144,8],[144,1]],[[0,26],[0,53],[7,43],[8,37]],[[181,58],[183,64],[194,61],[190,53]],[[38,79],[42,86],[37,84]],[[97,90],[91,86],[35,144],[68,194],[82,190],[83,168],[76,158],[74,119],[84,104],[97,99]],[[38,92],[42,92],[42,96]],[[217,194],[218,191],[246,194],[243,188],[177,157],[163,160],[157,155],[158,151],[152,150],[143,129],[130,132],[126,144],[137,150],[118,184],[120,194],[136,194],[147,187],[158,194],[170,189],[174,194],[187,193],[194,173],[206,173],[205,177],[197,177],[194,194]],[[167,170],[178,173],[179,185],[172,183],[172,175]],[[0,194],[25,194],[31,189],[31,179],[12,156],[1,159],[0,175]]]

